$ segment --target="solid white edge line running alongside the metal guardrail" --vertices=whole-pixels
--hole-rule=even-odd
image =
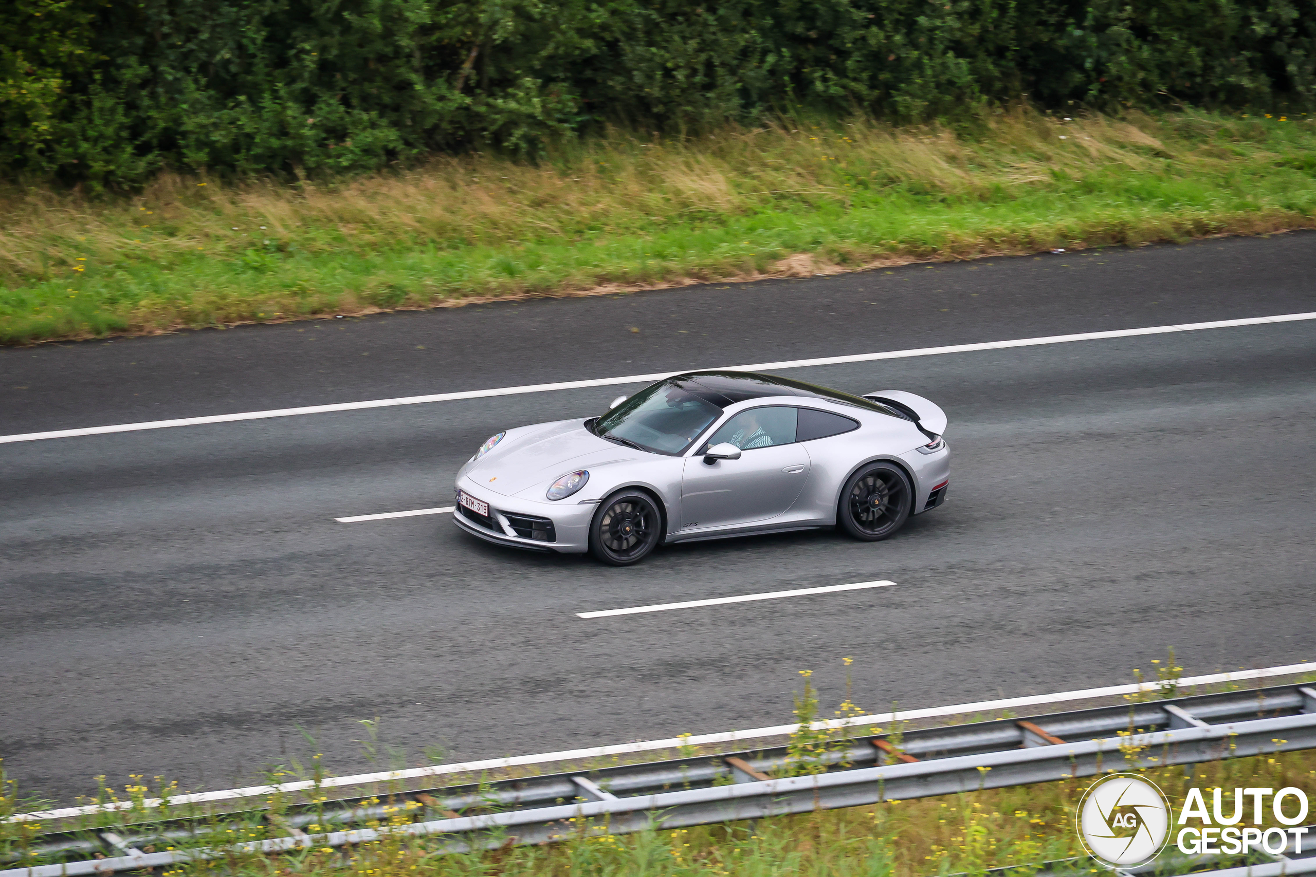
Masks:
[[[1217,682],[1236,682],[1250,678],[1265,678],[1267,676],[1292,676],[1296,673],[1316,672],[1316,663],[1284,664],[1282,667],[1265,667],[1254,671],[1237,671],[1233,673],[1211,673],[1208,676],[1187,676],[1179,680],[1179,688],[1194,685],[1215,685]],[[826,722],[813,722],[809,727],[815,730],[855,727],[863,724],[890,724],[891,722],[909,722],[913,719],[937,718],[944,715],[965,715],[982,713],[984,710],[1004,710],[1016,706],[1036,706],[1040,703],[1063,703],[1065,701],[1086,701],[1094,697],[1112,697],[1116,694],[1137,694],[1138,692],[1159,690],[1158,682],[1134,682],[1130,685],[1107,685],[1105,688],[1088,688],[1076,692],[1059,692],[1055,694],[1032,694],[1028,697],[1009,697],[999,701],[979,701],[976,703],[955,703],[954,706],[934,706],[925,710],[903,710],[899,713],[878,713],[873,715],[855,715],[845,719],[829,719]],[[395,780],[412,780],[417,777],[437,777],[451,773],[475,773],[480,770],[495,770],[497,768],[513,768],[528,764],[546,764],[553,761],[570,761],[575,759],[597,759],[609,755],[629,755],[634,752],[650,752],[653,749],[675,749],[684,746],[703,746],[708,743],[734,743],[738,740],[753,740],[766,736],[784,736],[794,734],[799,724],[778,724],[766,728],[751,728],[747,731],[722,731],[721,734],[684,735],[669,738],[666,740],[642,740],[637,743],[621,743],[616,746],[596,746],[587,749],[565,749],[562,752],[545,752],[542,755],[520,755],[507,759],[487,759],[483,761],[465,761],[461,764],[436,764],[428,768],[408,768],[405,770],[387,770],[382,773],[361,773],[349,777],[328,777],[318,782],[313,780],[301,782],[283,782],[279,785],[249,786],[245,789],[225,789],[222,792],[199,792],[195,794],[180,794],[168,799],[170,806],[180,803],[205,803],[211,801],[232,801],[234,798],[250,798],[255,795],[278,794],[287,792],[305,792],[308,789],[332,789],[341,786],[355,786],[367,782],[388,782]],[[162,798],[147,798],[142,807],[158,807],[164,801]],[[134,806],[132,801],[117,801],[107,805],[88,805],[84,807],[63,807],[59,810],[42,810],[38,813],[20,813],[8,817],[4,822],[32,822],[37,819],[64,819],[68,817],[82,817],[93,813],[109,813],[113,810],[128,810]]]

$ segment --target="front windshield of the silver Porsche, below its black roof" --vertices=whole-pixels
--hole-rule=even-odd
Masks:
[[[676,379],[646,387],[600,417],[595,430],[645,451],[680,454],[722,413],[682,383]]]

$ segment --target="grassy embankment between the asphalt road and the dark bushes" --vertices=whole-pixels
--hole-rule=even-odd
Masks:
[[[0,342],[1316,225],[1316,120],[616,134],[342,181],[0,200]]]

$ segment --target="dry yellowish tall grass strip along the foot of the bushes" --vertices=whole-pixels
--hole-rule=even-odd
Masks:
[[[517,245],[545,235],[580,241],[699,216],[751,213],[782,201],[849,205],[855,193],[846,189],[861,179],[878,188],[978,196],[994,187],[1048,183],[1058,174],[1078,180],[1095,170],[1144,171],[1145,147],[1166,147],[1152,133],[1161,125],[1137,121],[1141,126],[1105,117],[1066,124],[1016,112],[992,121],[979,142],[869,121],[833,129],[730,129],[694,142],[642,142],[616,133],[540,166],[484,155],[438,158],[397,174],[295,187],[224,188],[163,175],[142,193],[111,204],[78,193],[9,195],[0,202],[7,217],[0,276],[21,283],[75,267],[78,256],[167,260],[197,249],[241,252],[258,230],[270,233],[262,238],[295,239],[311,252],[374,252],[400,243]],[[1169,155],[1188,164],[1220,160]]]

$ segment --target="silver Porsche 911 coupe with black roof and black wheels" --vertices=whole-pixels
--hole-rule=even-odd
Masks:
[[[457,473],[457,526],[625,565],[659,544],[842,527],[875,542],[941,505],[945,413],[788,377],[675,375],[601,417],[491,437]]]

